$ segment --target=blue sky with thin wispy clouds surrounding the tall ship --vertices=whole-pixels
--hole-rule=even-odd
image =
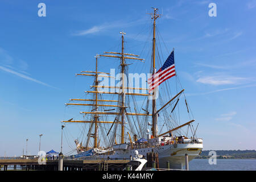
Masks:
[[[46,17],[38,4],[46,4]],[[209,3],[217,17],[208,15]],[[151,7],[158,7],[163,57],[175,48],[177,75],[199,123],[204,150],[256,149],[256,1],[5,1],[0,2],[0,156],[59,151],[64,106],[84,97],[96,53],[126,51],[147,60]],[[100,59],[99,69],[117,68]],[[131,61],[130,61],[131,62]],[[134,63],[134,62],[133,62]],[[148,72],[147,62],[129,70]],[[157,65],[158,68],[160,65]],[[184,121],[185,122],[185,121]],[[183,123],[184,123],[183,122]],[[68,129],[67,129],[68,130]],[[72,138],[78,133],[67,131]],[[64,152],[74,147],[64,139]]]

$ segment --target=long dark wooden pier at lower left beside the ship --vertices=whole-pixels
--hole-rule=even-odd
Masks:
[[[64,160],[63,171],[121,171],[130,160]],[[2,159],[1,170],[7,171],[8,166],[23,167],[30,171],[57,171],[59,160],[46,160],[46,164],[39,164],[38,159]],[[3,167],[2,167],[3,166]],[[10,170],[10,169],[9,169]]]

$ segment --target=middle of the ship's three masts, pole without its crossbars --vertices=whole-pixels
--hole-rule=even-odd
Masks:
[[[121,102],[121,143],[125,143],[125,56],[123,55],[123,35],[125,32],[119,32],[122,34],[122,102]]]

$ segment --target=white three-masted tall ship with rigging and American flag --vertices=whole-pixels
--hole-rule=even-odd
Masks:
[[[95,70],[81,71],[77,76],[93,78],[85,98],[71,98],[65,105],[83,106],[83,119],[68,119],[63,123],[80,123],[82,137],[75,139],[76,152],[70,155],[82,159],[130,159],[135,150],[140,155],[157,152],[159,168],[181,169],[188,160],[200,155],[203,139],[196,137],[195,119],[177,77],[174,49],[161,62],[156,41],[158,9],[150,14],[152,19],[152,49],[150,59],[125,52],[125,32],[121,34],[121,51],[96,55]],[[119,60],[117,75],[98,71],[99,59]],[[128,73],[127,60],[144,62],[148,73]],[[117,62],[115,62],[117,63]],[[106,60],[104,60],[104,64]],[[112,62],[113,64],[113,62]],[[160,65],[156,68],[156,65]],[[130,71],[130,70],[129,70]],[[89,79],[92,79],[89,78]],[[170,86],[176,80],[176,86]],[[134,86],[135,85],[135,86]],[[176,91],[174,93],[174,91]],[[181,111],[184,109],[184,111]],[[187,114],[188,120],[180,117]]]

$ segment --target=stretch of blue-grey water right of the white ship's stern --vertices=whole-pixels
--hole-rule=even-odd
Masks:
[[[256,171],[256,159],[217,159],[210,165],[208,159],[193,159],[190,171]]]

